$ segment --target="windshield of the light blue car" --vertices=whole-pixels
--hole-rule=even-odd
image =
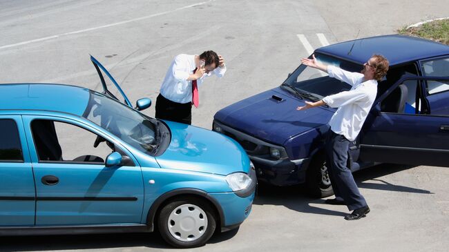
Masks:
[[[83,117],[149,155],[160,142],[156,119],[96,92],[90,92]]]

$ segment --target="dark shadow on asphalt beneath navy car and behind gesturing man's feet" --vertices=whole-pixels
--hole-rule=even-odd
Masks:
[[[409,186],[401,186],[398,184],[391,184],[385,180],[380,180],[378,177],[384,175],[397,173],[404,171],[414,166],[404,166],[397,164],[380,164],[370,168],[366,168],[362,171],[354,173],[354,180],[356,180],[359,188],[370,188],[374,190],[384,191],[397,191],[404,193],[426,193],[432,194],[430,191],[423,190],[421,188],[412,188]],[[376,183],[367,181],[376,181]],[[347,215],[347,209],[345,211],[332,211],[319,206],[312,206],[316,204],[325,204],[323,199],[315,199],[307,195],[305,186],[271,186],[269,184],[259,183],[258,195],[254,200],[254,204],[263,205],[282,205],[288,209],[298,211],[301,213],[314,213],[318,215]],[[325,206],[324,206],[325,207]]]

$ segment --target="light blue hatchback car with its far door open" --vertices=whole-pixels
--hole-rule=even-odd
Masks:
[[[0,85],[0,235],[157,226],[166,242],[188,248],[238,227],[257,184],[243,148],[210,130],[143,115],[138,110],[151,100],[133,108],[91,60],[104,93]]]

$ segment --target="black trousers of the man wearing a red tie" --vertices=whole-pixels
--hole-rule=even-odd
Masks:
[[[156,99],[156,118],[182,124],[192,124],[192,103],[178,104],[158,95]]]

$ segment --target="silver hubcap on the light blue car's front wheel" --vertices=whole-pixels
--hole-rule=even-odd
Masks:
[[[171,211],[167,225],[173,238],[191,242],[206,232],[207,215],[199,206],[183,204]]]

